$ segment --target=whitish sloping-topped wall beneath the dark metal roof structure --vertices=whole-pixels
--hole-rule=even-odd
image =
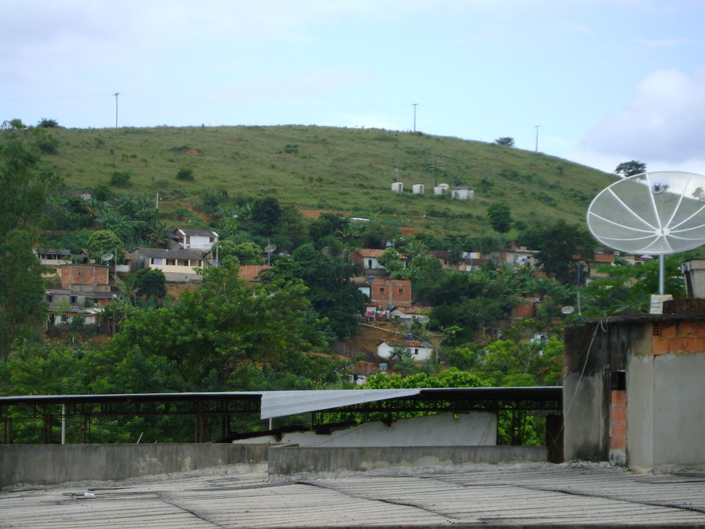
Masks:
[[[333,430],[330,434],[290,432],[281,440],[262,436],[235,443],[298,444],[298,446],[484,446],[497,444],[497,418],[493,413],[439,413],[425,417]]]

